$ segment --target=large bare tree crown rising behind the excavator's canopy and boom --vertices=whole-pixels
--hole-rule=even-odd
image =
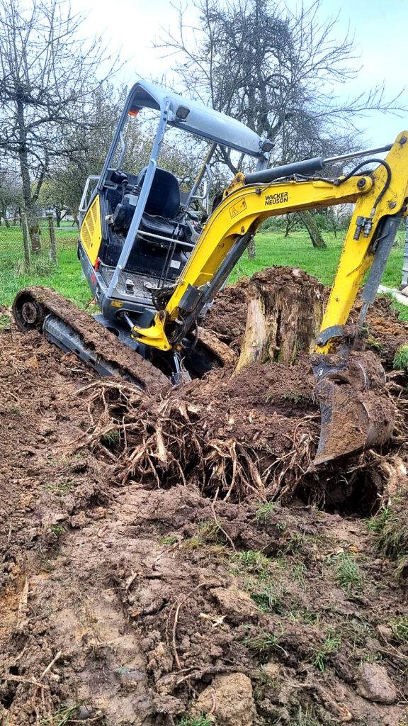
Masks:
[[[355,148],[359,119],[370,110],[401,109],[375,86],[344,102],[336,91],[359,72],[354,39],[338,41],[337,18],[320,22],[320,0],[295,12],[274,0],[192,0],[194,28],[179,9],[178,32],[156,43],[174,54],[189,94],[266,134],[272,162],[287,163]],[[224,162],[236,166],[224,152]],[[303,216],[310,217],[309,213]],[[314,245],[325,242],[309,220]]]

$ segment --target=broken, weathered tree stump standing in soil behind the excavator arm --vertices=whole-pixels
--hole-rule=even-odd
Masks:
[[[250,280],[248,315],[235,372],[261,361],[295,362],[312,353],[323,318],[324,286],[300,269],[272,267]]]

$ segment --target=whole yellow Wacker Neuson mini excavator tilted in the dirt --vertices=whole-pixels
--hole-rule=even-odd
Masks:
[[[126,123],[152,113],[157,131],[147,166],[126,171]],[[160,168],[163,139],[203,139],[208,151],[189,192]],[[381,397],[382,367],[357,352],[346,326],[356,294],[367,306],[378,290],[401,216],[407,215],[408,133],[382,148],[337,158],[313,158],[268,168],[272,144],[238,121],[146,81],[135,83],[98,177],[90,177],[80,211],[78,257],[100,314],[92,319],[65,298],[28,287],[15,298],[22,330],[41,330],[102,375],[121,375],[155,391],[203,375],[219,365],[220,351],[197,336],[197,325],[227,281],[262,221],[269,216],[355,203],[338,272],[316,340],[311,366],[322,428],[315,465],[383,444],[393,412]],[[205,222],[195,200],[208,205],[211,158],[216,150],[255,160],[237,174]],[[374,154],[388,152],[383,158]],[[326,178],[325,167],[360,157],[345,176]],[[319,176],[317,176],[317,174]],[[92,188],[94,185],[94,188]],[[357,327],[359,327],[357,326]],[[380,396],[380,397],[379,397]]]

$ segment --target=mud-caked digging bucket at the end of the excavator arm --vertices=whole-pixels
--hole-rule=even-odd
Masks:
[[[385,372],[371,351],[314,355],[321,430],[311,468],[385,444],[391,438],[395,409],[385,392]]]

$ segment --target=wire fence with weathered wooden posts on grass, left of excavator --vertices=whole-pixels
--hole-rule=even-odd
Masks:
[[[61,248],[75,245],[78,228],[56,228],[54,216],[2,219],[0,222],[0,268],[15,275],[46,275],[58,266]]]

